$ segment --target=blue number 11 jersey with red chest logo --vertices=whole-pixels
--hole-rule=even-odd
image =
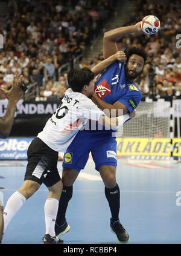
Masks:
[[[141,100],[141,91],[135,82],[125,79],[124,63],[115,61],[95,82],[95,93],[100,99],[113,105],[121,102],[132,112]]]

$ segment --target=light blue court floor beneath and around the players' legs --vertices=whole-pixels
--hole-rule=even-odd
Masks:
[[[4,205],[22,185],[26,165],[26,161],[0,162]],[[61,175],[61,161],[58,168]],[[119,160],[116,173],[121,191],[119,218],[129,232],[129,244],[181,243],[181,164]],[[48,189],[42,185],[11,220],[2,243],[42,244],[47,195]],[[71,230],[62,236],[65,244],[119,243],[116,235],[110,231],[110,209],[104,195],[104,185],[92,160],[87,162],[74,183],[66,219]]]

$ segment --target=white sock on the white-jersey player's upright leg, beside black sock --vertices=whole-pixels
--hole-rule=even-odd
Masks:
[[[58,199],[46,199],[45,202],[45,234],[49,234],[52,237],[56,235],[55,233],[55,223],[57,218],[57,212],[59,209],[59,200]]]

